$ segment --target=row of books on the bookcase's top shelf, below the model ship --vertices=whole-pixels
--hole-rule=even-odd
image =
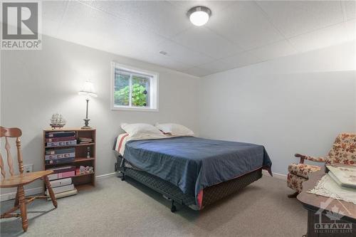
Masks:
[[[75,132],[46,132],[46,147],[72,146],[77,144]]]

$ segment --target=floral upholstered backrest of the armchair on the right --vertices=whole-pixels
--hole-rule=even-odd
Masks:
[[[341,133],[330,149],[326,164],[356,165],[356,134]]]

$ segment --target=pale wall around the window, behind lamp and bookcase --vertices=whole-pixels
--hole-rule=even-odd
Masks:
[[[112,60],[159,73],[159,112],[110,110]],[[121,122],[177,122],[198,132],[199,78],[43,36],[42,51],[1,52],[1,125],[21,128],[24,163],[35,171],[43,169],[42,130],[53,113],[66,118],[66,127],[83,126],[85,99],[78,90],[88,78],[98,93],[89,104],[97,129],[96,175],[114,172],[112,144]]]

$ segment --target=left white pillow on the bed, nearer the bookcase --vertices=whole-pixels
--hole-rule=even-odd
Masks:
[[[157,127],[152,125],[147,125],[146,123],[122,123],[122,130],[129,134],[130,140],[132,139],[158,139],[165,138],[164,134],[162,134]]]

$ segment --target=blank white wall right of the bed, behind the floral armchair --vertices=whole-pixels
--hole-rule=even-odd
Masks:
[[[355,42],[201,79],[200,135],[263,144],[273,172],[300,152],[323,156],[356,132]]]

